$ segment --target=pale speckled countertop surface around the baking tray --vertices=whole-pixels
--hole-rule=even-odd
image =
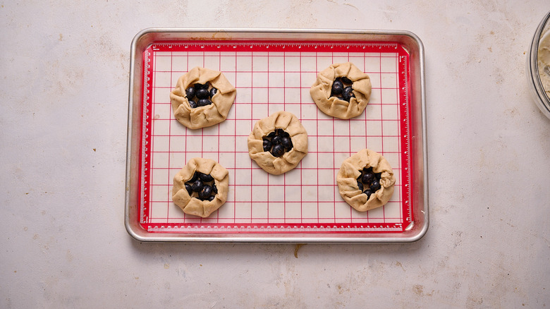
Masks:
[[[546,1],[73,1],[0,6],[1,308],[543,308],[550,119],[525,78]],[[138,243],[123,225],[143,28],[409,30],[425,47],[426,236]]]

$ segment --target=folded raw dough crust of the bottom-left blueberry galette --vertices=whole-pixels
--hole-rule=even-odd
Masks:
[[[190,180],[195,174],[195,171],[200,171],[203,174],[210,174],[214,177],[214,183],[218,188],[218,193],[214,200],[199,200],[191,198],[187,190],[185,190],[185,181]],[[229,173],[224,166],[212,159],[194,158],[190,159],[183,169],[178,171],[178,174],[173,178],[172,200],[186,214],[206,218],[212,212],[216,211],[227,200],[229,186]]]

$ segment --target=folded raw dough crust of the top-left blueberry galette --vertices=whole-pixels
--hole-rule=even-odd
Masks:
[[[185,89],[195,83],[207,82],[218,89],[216,95],[212,97],[212,104],[192,109],[185,97]],[[224,74],[197,66],[178,79],[176,88],[170,94],[173,115],[183,126],[190,129],[214,126],[214,124],[226,120],[236,94],[237,90],[229,83]]]

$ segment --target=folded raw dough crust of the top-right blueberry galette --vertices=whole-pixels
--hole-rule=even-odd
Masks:
[[[347,76],[353,81],[352,89],[355,97],[350,102],[331,97],[332,83],[336,78]],[[319,72],[317,81],[312,85],[310,94],[324,114],[339,119],[350,119],[359,116],[369,103],[372,86],[369,75],[362,73],[351,62],[333,63]]]

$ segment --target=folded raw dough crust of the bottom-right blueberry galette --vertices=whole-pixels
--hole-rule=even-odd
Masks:
[[[357,177],[365,167],[372,167],[374,173],[381,173],[380,188],[372,193],[368,200],[367,195],[357,187]],[[381,154],[364,149],[344,160],[340,171],[338,171],[336,182],[342,198],[355,210],[365,212],[384,206],[389,201],[393,194],[396,178],[393,176],[390,164]]]

